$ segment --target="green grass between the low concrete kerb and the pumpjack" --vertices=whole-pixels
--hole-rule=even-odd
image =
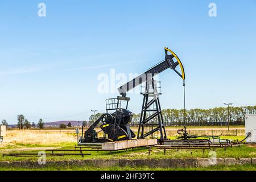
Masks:
[[[238,139],[241,140],[243,137],[221,137],[226,139]],[[31,148],[29,151],[11,151],[8,153],[35,153],[37,154],[39,150],[35,150],[35,147],[62,147],[61,149],[74,149],[76,143],[59,143],[51,146],[44,144],[11,144],[5,147],[0,148],[0,161],[37,161],[37,156],[32,157],[14,157],[14,156],[2,156],[4,150],[13,149],[13,148],[23,148],[29,147]],[[92,155],[85,155],[84,158],[81,156],[47,156],[48,161],[58,161],[58,160],[78,160],[78,159],[171,159],[171,158],[208,158],[209,151],[205,150],[203,154],[203,150],[167,150],[166,155],[163,154],[163,150],[156,150],[153,148],[151,155],[148,155],[148,150],[146,148],[136,148],[134,151],[127,150],[125,151],[115,151],[110,154],[105,151],[86,151],[84,153],[90,153]],[[233,146],[228,147],[225,151],[224,148],[216,148],[217,158],[256,158],[256,147],[249,147],[245,144],[241,146]],[[5,152],[6,153],[6,152]],[[49,152],[47,152],[49,153]]]

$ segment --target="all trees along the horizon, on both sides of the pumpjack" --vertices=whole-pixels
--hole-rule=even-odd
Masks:
[[[184,117],[185,114],[185,117]],[[228,125],[228,115],[230,125],[245,125],[245,114],[256,114],[256,106],[241,106],[241,107],[215,107],[213,109],[164,109],[162,110],[164,125],[166,126],[184,126],[186,121],[187,126],[222,126]],[[94,121],[100,118],[102,113],[90,115],[89,121],[84,121],[82,125],[92,125]],[[138,125],[141,113],[133,114],[131,125]],[[30,127],[39,127],[43,129],[44,122],[39,119],[38,124],[29,122],[23,114],[17,115],[19,129],[30,129]],[[150,121],[151,123],[157,122],[157,117]],[[2,120],[2,125],[8,125],[5,119]],[[71,125],[71,123],[69,124]],[[69,126],[68,127],[71,127]],[[64,126],[60,126],[64,128]],[[65,126],[67,127],[67,126]]]

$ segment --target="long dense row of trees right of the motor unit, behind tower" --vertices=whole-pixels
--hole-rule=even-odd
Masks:
[[[221,126],[228,125],[228,115],[230,125],[245,125],[245,114],[256,114],[256,106],[242,107],[215,107],[213,109],[164,109],[162,110],[163,121],[166,126],[183,126],[184,121],[187,126]],[[184,117],[185,115],[185,117]],[[134,114],[131,125],[138,125],[141,114]],[[151,121],[157,122],[157,118]]]

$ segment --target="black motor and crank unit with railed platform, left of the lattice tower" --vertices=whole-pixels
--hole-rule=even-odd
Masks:
[[[133,113],[127,109],[128,97],[109,98],[106,100],[106,113],[102,114],[96,122],[85,131],[82,136],[82,143],[102,143],[113,142],[118,140],[127,140],[135,137],[134,132],[130,129],[129,123],[133,118]],[[126,101],[126,109],[121,108],[121,101]],[[110,114],[108,111],[115,110]],[[101,123],[100,128],[104,132],[102,138],[98,137],[95,130],[96,126]],[[83,130],[83,127],[82,127]],[[83,131],[82,131],[83,133]]]

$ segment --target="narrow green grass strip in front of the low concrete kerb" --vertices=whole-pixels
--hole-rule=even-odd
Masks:
[[[149,168],[149,167],[53,167],[44,168],[1,168],[0,171],[256,171],[256,165],[244,166],[210,166],[199,168]]]

